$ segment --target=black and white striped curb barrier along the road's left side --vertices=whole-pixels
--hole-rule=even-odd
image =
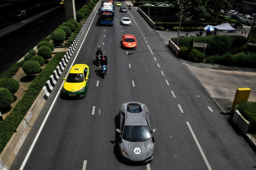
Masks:
[[[96,7],[98,6],[99,2],[97,3]],[[45,100],[48,99],[50,96],[51,91],[53,90],[53,87],[56,85],[59,77],[61,76],[64,68],[67,65],[67,62],[69,62],[69,59],[71,58],[73,52],[75,51],[75,48],[77,47],[80,39],[82,38],[83,33],[85,32],[86,27],[88,26],[92,16],[94,15],[94,12],[96,11],[96,7],[93,9],[89,17],[87,18],[85,24],[83,24],[83,27],[81,28],[80,32],[78,33],[77,37],[75,38],[74,42],[70,46],[69,50],[67,50],[66,54],[62,58],[61,62],[59,62],[59,65],[54,70],[53,74],[50,76],[50,79],[47,80],[45,86],[43,86],[43,90],[45,91],[45,95],[43,98]]]

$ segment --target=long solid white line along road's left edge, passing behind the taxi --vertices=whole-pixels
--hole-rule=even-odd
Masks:
[[[96,15],[94,15],[94,17],[95,17],[95,16],[96,16]],[[93,20],[94,20],[94,17],[93,17]],[[93,22],[91,22],[91,24],[92,24],[92,23],[93,23]],[[73,66],[73,64],[74,64],[74,62],[75,62],[75,59],[77,59],[77,56],[78,56],[78,54],[79,54],[79,51],[81,50],[81,48],[82,48],[82,46],[83,46],[83,42],[85,41],[86,36],[87,36],[87,34],[88,34],[88,31],[90,30],[91,24],[90,24],[90,26],[89,26],[89,28],[88,28],[86,34],[85,34],[85,38],[83,39],[81,46],[79,47],[79,49],[78,49],[78,51],[77,51],[77,54],[75,55],[75,58],[74,58],[73,62],[72,62],[71,65],[70,65],[69,70],[70,70],[71,67]],[[69,71],[68,71],[67,73],[69,73]],[[48,119],[48,116],[49,116],[49,114],[50,114],[50,112],[51,112],[51,109],[53,109],[53,106],[54,106],[54,104],[55,104],[55,102],[56,102],[56,100],[57,100],[57,97],[59,96],[59,93],[61,92],[61,89],[62,89],[62,86],[63,86],[64,82],[65,82],[65,80],[63,80],[63,82],[62,82],[62,84],[61,84],[61,87],[59,88],[59,91],[58,91],[57,95],[55,96],[55,98],[54,98],[54,100],[53,100],[53,103],[51,104],[51,107],[50,107],[50,109],[48,110],[48,112],[47,112],[47,114],[46,114],[46,116],[45,116],[45,119],[44,119],[43,122],[42,122],[42,125],[40,126],[40,129],[38,130],[37,136],[35,136],[35,139],[34,139],[32,145],[30,146],[29,152],[27,152],[27,155],[26,155],[26,157],[25,157],[25,159],[24,159],[24,161],[23,161],[23,163],[22,163],[22,165],[21,165],[20,170],[23,170],[23,168],[25,167],[25,164],[26,164],[27,160],[29,159],[29,156],[30,156],[30,154],[31,154],[31,152],[32,152],[32,150],[33,150],[33,148],[34,148],[34,146],[35,146],[35,143],[37,142],[37,139],[38,139],[38,137],[39,137],[39,135],[40,135],[40,133],[41,133],[41,131],[42,131],[42,129],[43,129],[43,126],[45,126],[45,122],[46,122],[46,120]]]

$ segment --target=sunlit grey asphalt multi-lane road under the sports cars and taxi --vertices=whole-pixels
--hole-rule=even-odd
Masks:
[[[131,26],[120,25],[125,16],[132,19]],[[100,26],[97,14],[91,23],[10,169],[19,169],[22,163],[26,170],[255,168],[255,152],[134,8],[127,13],[116,8],[113,27]],[[123,34],[136,36],[136,50],[121,48]],[[94,64],[98,45],[108,56],[104,79]],[[90,67],[87,95],[81,100],[61,99],[62,78],[76,63]],[[119,160],[118,109],[129,101],[147,105],[151,126],[157,130],[154,159],[147,165]]]

